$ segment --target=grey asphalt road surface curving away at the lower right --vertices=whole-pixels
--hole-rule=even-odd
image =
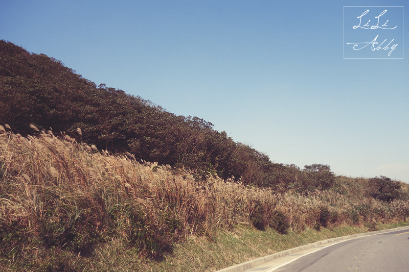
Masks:
[[[355,238],[327,246],[279,268],[268,269],[268,271],[407,272],[409,271],[408,237],[408,230],[400,230]]]

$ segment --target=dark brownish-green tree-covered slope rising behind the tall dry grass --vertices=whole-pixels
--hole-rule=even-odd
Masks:
[[[198,176],[276,182],[267,156],[201,118],[176,116],[141,97],[96,86],[60,61],[10,42],[0,41],[0,60],[0,124],[12,124],[15,133],[27,135],[30,124],[51,127],[55,134],[65,131],[99,149],[195,169]]]

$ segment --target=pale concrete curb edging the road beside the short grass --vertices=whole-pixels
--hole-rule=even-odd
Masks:
[[[409,229],[409,226],[399,227],[395,229],[381,230],[381,231],[358,233],[358,234],[352,234],[352,235],[342,236],[342,237],[335,237],[335,238],[331,238],[331,239],[327,239],[323,241],[318,241],[315,243],[302,245],[302,246],[299,246],[298,248],[293,248],[293,249],[281,251],[275,254],[267,255],[267,256],[264,256],[264,257],[261,257],[255,260],[236,264],[230,267],[223,268],[221,270],[217,270],[216,272],[243,272],[244,270],[253,268],[257,265],[261,265],[263,263],[270,262],[272,260],[287,256],[287,255],[290,255],[290,254],[293,254],[293,253],[296,253],[302,250],[311,249],[311,248],[314,248],[315,246],[319,246],[324,243],[331,243],[331,242],[336,242],[336,241],[341,241],[341,240],[348,240],[348,239],[352,239],[356,237],[370,236],[370,235],[375,235],[379,233],[387,233],[387,232],[393,232],[393,231],[399,231],[399,230],[405,230],[405,229]]]

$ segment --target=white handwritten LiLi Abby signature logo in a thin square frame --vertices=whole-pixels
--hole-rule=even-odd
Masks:
[[[346,12],[345,8],[346,7],[344,7],[344,16]],[[399,30],[397,24],[397,21],[399,20],[396,20],[394,18],[397,16],[397,13],[388,13],[389,8],[402,8],[403,17],[403,7],[349,8],[359,8],[360,12],[358,13],[358,16],[356,16],[356,13],[359,9],[347,10],[351,14],[349,14],[350,16],[348,17],[344,17],[344,35],[348,34],[347,42],[345,45],[346,48],[344,47],[344,56],[347,51],[348,55],[353,56],[354,58],[384,58],[384,55],[381,56],[379,54],[376,54],[374,56],[375,53],[372,53],[373,55],[368,55],[370,54],[370,52],[381,51],[385,52],[383,54],[391,57],[392,53],[403,44],[403,19],[402,30]],[[379,8],[381,8],[380,12]],[[353,16],[353,13],[355,13],[355,16]],[[396,40],[396,37],[394,35],[398,35],[398,38],[401,38],[402,44],[400,43],[400,40]],[[357,40],[358,38],[361,38],[362,40]],[[351,53],[351,48],[352,51],[366,52],[362,53],[361,55],[357,55],[356,53]]]

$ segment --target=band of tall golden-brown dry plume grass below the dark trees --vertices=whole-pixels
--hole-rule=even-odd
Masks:
[[[354,194],[356,186],[348,179],[339,181],[339,192],[308,195],[277,195],[212,177],[198,184],[189,171],[138,162],[130,154],[111,156],[66,135],[42,131],[24,138],[5,131],[0,128],[4,267],[23,261],[28,269],[58,270],[52,265],[63,265],[70,254],[91,256],[98,244],[111,240],[158,259],[190,235],[212,238],[216,229],[236,225],[298,232],[409,216],[407,201],[384,203]],[[33,256],[51,260],[51,252],[63,257],[33,264]]]

